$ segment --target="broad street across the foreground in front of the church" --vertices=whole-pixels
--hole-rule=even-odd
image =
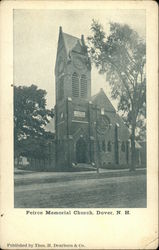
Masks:
[[[146,174],[113,173],[16,175],[15,208],[146,207]]]

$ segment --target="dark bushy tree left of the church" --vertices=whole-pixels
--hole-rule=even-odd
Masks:
[[[48,158],[48,139],[53,134],[45,125],[54,116],[46,109],[46,91],[37,86],[14,86],[14,152],[15,157]]]

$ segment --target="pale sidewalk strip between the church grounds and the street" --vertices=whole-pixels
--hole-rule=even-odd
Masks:
[[[14,183],[16,186],[29,185],[36,183],[63,182],[71,180],[87,180],[87,179],[103,179],[109,177],[135,176],[146,174],[146,169],[138,168],[135,172],[128,169],[99,169],[99,173],[95,171],[88,172],[33,172],[26,170],[15,170]]]

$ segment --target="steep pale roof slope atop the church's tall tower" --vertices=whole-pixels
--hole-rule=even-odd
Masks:
[[[77,42],[81,44],[81,39],[62,32],[67,54],[75,47]],[[81,44],[82,45],[82,44]]]

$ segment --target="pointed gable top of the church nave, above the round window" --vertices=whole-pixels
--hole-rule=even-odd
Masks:
[[[94,104],[105,107],[107,111],[116,112],[102,88],[99,93],[91,97],[91,100]]]

